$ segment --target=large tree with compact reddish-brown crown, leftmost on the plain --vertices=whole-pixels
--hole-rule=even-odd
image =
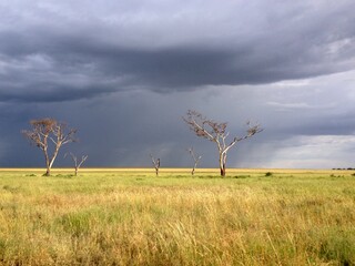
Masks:
[[[22,134],[32,145],[42,150],[47,167],[45,175],[50,176],[51,167],[60,147],[75,141],[77,130],[68,129],[65,123],[60,123],[54,119],[31,120],[30,124],[32,130],[23,130]]]

